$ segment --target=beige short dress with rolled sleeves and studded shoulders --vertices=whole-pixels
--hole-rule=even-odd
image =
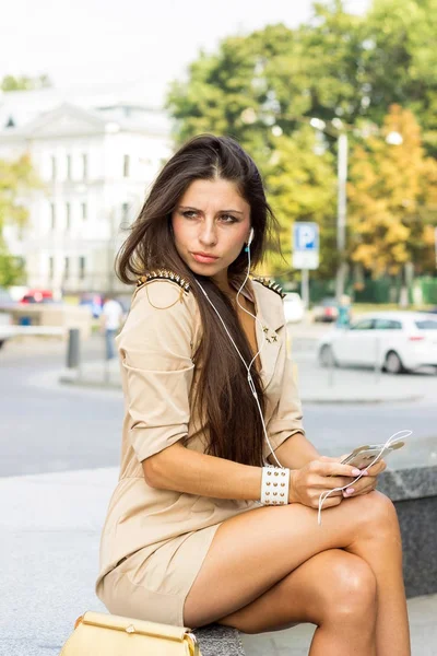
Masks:
[[[252,349],[267,338],[259,356],[264,421],[277,448],[304,432],[283,301],[257,280],[248,280],[241,294],[249,307],[253,302],[261,321],[241,321]],[[96,582],[97,596],[114,614],[184,625],[185,599],[216,529],[234,515],[259,508],[255,501],[157,490],[143,477],[142,460],[178,440],[188,449],[205,450],[208,435],[189,398],[198,380],[192,354],[201,330],[193,293],[178,282],[152,278],[137,288],[117,337],[126,401],[121,466],[102,532]],[[269,454],[265,445],[265,458]]]

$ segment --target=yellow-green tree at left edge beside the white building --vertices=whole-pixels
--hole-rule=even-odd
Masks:
[[[0,160],[0,285],[8,286],[20,282],[23,276],[21,262],[8,251],[4,226],[17,225],[23,229],[28,219],[24,197],[40,181],[32,167],[31,157],[22,155],[15,161]]]

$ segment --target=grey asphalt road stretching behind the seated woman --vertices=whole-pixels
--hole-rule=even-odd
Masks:
[[[102,353],[103,344],[94,338],[84,344],[83,360]],[[11,341],[0,351],[1,477],[118,466],[122,394],[59,385],[64,359],[66,344],[54,340]],[[357,371],[357,384],[361,375]],[[437,432],[437,403],[430,398],[410,403],[307,405],[304,415],[308,437],[328,455],[385,442],[402,429],[414,431],[414,441],[422,445],[434,441]],[[414,448],[411,453],[414,456]]]

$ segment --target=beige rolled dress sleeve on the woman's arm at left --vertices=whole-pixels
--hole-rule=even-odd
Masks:
[[[134,294],[118,337],[129,436],[140,462],[188,434],[193,303],[177,283],[151,281]]]

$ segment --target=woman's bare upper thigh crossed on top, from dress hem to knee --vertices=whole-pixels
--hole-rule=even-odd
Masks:
[[[187,595],[184,621],[198,625],[223,618],[260,597],[309,558],[346,549],[361,534],[393,525],[395,511],[383,494],[370,492],[322,512],[302,504],[248,511],[217,529],[202,567]]]

